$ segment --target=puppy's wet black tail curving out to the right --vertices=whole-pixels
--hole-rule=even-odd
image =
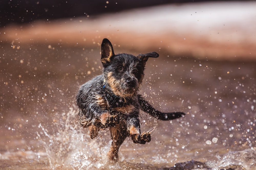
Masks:
[[[138,95],[138,100],[142,110],[158,120],[173,120],[185,115],[183,112],[162,113],[151,106],[141,95]]]

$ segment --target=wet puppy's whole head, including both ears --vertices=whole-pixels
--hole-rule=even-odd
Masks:
[[[149,57],[158,57],[156,52],[140,54],[114,54],[113,46],[106,38],[101,44],[101,63],[105,86],[120,98],[132,98],[137,95],[144,78],[144,68]]]

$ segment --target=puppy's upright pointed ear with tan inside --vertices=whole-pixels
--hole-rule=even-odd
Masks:
[[[103,66],[110,63],[111,58],[114,56],[114,50],[111,42],[104,38],[101,43],[101,63]]]

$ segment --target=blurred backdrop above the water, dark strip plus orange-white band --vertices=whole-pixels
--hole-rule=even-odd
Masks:
[[[255,60],[254,9],[254,1],[1,1],[1,40],[95,47],[109,37],[128,49]]]

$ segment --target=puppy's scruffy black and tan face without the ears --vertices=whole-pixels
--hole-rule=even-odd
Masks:
[[[118,54],[113,56],[112,61],[104,67],[103,73],[114,95],[131,98],[142,83],[144,66],[135,56]]]

